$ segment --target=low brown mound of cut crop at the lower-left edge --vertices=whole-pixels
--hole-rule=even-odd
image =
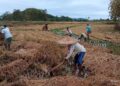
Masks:
[[[18,77],[20,73],[26,70],[31,63],[23,59],[15,60],[5,66],[0,67],[0,79],[13,80]]]

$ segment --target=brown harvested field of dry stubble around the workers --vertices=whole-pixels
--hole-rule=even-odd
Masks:
[[[86,77],[76,77],[71,64],[63,64],[51,73],[50,69],[63,62],[67,47],[57,44],[63,36],[52,30],[65,31],[66,27],[80,35],[85,32],[86,22],[53,22],[49,31],[42,31],[39,23],[10,23],[13,34],[12,50],[0,46],[0,86],[120,86],[119,50],[91,45],[80,41],[87,53],[84,66]],[[91,23],[92,39],[106,40],[120,44],[120,33],[114,25]],[[120,46],[118,46],[120,47]],[[120,49],[120,48],[118,48]]]

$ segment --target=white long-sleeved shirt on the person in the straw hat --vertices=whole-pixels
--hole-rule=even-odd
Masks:
[[[79,53],[79,52],[86,52],[86,49],[83,45],[76,43],[69,47],[68,54],[66,56],[66,59],[69,59],[73,52]]]

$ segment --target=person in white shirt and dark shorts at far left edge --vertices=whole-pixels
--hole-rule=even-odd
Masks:
[[[1,30],[1,33],[4,37],[4,46],[7,50],[10,50],[10,45],[11,45],[11,41],[12,41],[12,34],[9,30],[9,28],[7,27],[7,25],[3,25],[3,28]]]

